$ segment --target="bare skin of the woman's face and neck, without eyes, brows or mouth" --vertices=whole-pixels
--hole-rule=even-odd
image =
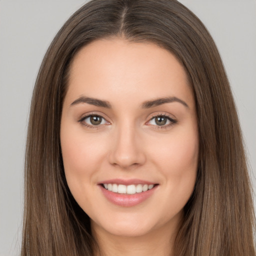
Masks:
[[[111,108],[72,104],[81,96],[107,100]],[[168,96],[186,105],[173,101],[141,108]],[[89,114],[104,119],[93,126],[89,118],[81,120]],[[157,125],[156,115],[175,121]],[[157,45],[121,38],[81,48],[70,67],[60,142],[68,186],[104,253],[170,255],[198,162],[194,97],[177,59]],[[158,186],[142,203],[123,207],[109,202],[98,185],[112,178]]]

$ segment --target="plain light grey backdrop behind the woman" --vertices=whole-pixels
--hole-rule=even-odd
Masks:
[[[180,0],[222,56],[256,186],[256,1]],[[29,102],[43,55],[83,0],[0,0],[0,256],[18,255]],[[254,174],[253,174],[254,172]]]

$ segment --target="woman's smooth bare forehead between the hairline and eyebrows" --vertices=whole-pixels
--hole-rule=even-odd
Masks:
[[[184,68],[176,57],[152,43],[96,40],[74,56],[67,97],[144,101],[178,96],[193,101]],[[130,102],[130,101],[129,101]]]

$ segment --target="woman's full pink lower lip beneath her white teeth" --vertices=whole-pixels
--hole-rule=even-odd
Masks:
[[[131,207],[143,202],[148,197],[150,197],[155,191],[157,186],[154,186],[153,188],[148,189],[144,192],[135,193],[135,194],[119,194],[119,193],[109,191],[104,187],[102,187],[101,185],[99,185],[99,187],[102,193],[104,194],[104,196],[113,204],[123,206],[123,207]]]

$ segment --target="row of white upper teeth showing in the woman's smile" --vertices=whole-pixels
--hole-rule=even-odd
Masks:
[[[104,188],[120,194],[135,194],[135,193],[141,193],[145,192],[151,188],[153,188],[153,184],[147,185],[147,184],[137,184],[137,185],[122,185],[122,184],[103,184]]]

